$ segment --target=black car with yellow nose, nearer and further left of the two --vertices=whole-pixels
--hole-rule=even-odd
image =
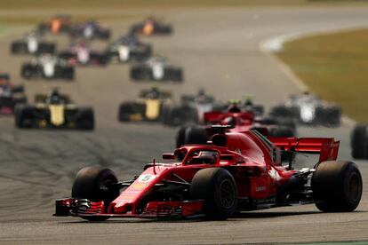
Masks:
[[[21,129],[94,129],[92,107],[77,107],[58,90],[52,90],[48,95],[36,95],[35,105],[17,105],[14,115],[15,126]]]

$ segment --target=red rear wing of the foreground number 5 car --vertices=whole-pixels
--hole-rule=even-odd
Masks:
[[[334,138],[268,138],[275,146],[285,151],[306,154],[319,154],[319,161],[336,160],[339,154],[340,141]]]

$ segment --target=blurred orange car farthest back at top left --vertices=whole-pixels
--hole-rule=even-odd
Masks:
[[[51,34],[68,33],[71,26],[71,16],[68,14],[57,14],[50,20],[45,20],[38,25],[38,31],[41,33],[49,32]]]

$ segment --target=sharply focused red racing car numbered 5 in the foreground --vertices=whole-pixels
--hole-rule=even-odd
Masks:
[[[219,133],[210,145],[182,146],[153,160],[137,178],[118,182],[112,170],[80,170],[72,197],[56,201],[55,216],[227,219],[236,210],[316,203],[322,211],[353,211],[362,177],[353,162],[336,161],[333,138],[265,138],[257,131]],[[312,169],[282,165],[282,154],[319,154]]]

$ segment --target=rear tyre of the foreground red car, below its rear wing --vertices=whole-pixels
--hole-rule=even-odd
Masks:
[[[324,212],[353,211],[362,197],[362,176],[354,162],[319,163],[311,185],[316,207]]]

